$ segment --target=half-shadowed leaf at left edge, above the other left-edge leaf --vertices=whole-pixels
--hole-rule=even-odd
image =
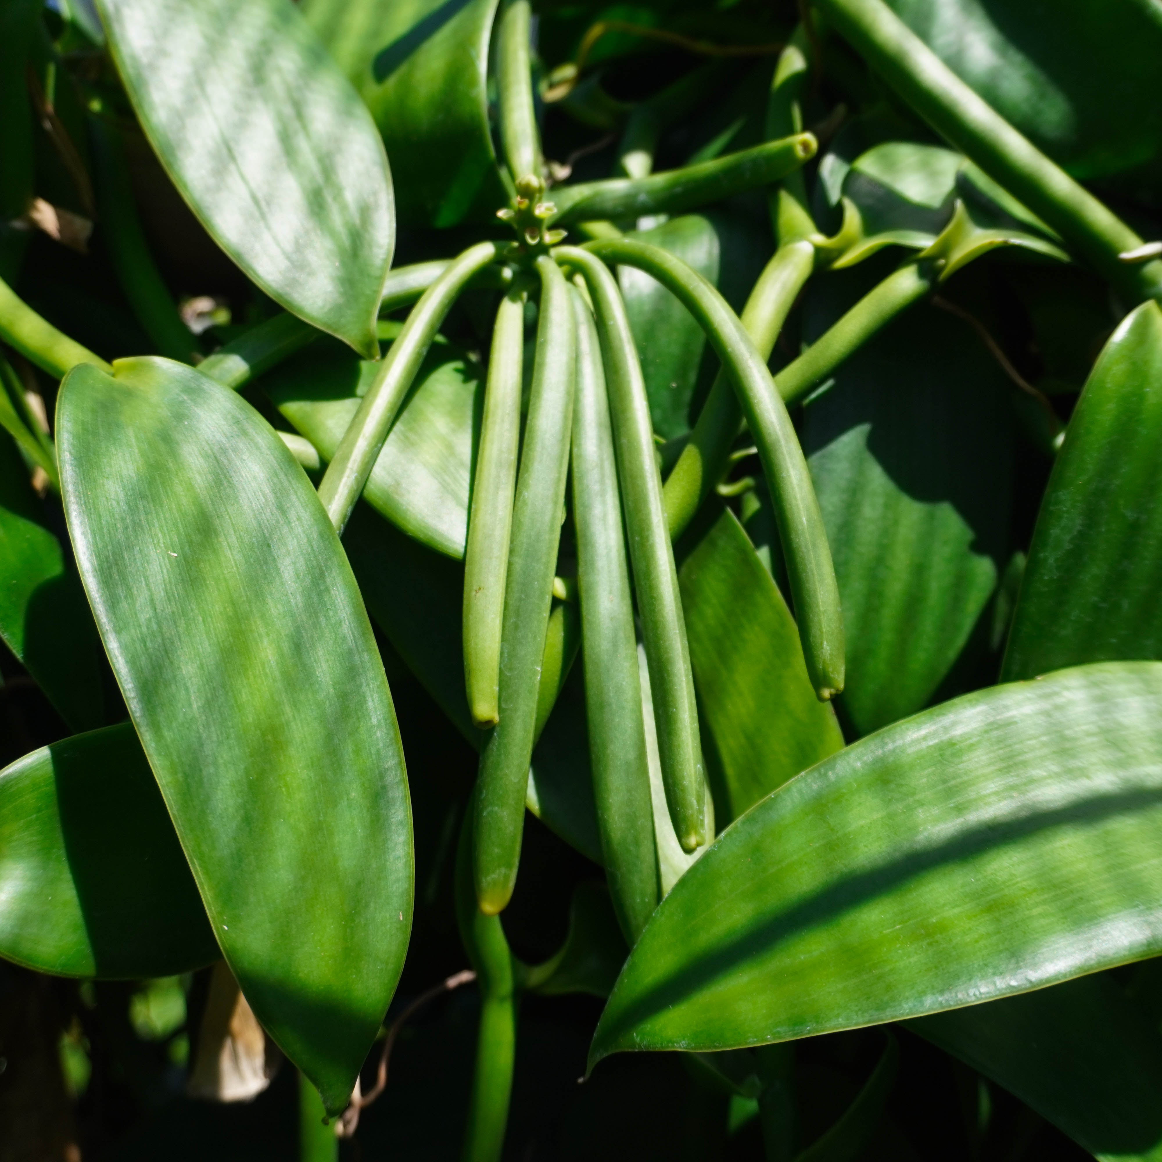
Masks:
[[[0,432],[0,638],[73,730],[101,725],[93,618],[7,432]]]

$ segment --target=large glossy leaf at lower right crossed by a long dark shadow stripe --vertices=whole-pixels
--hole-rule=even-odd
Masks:
[[[945,703],[718,838],[630,955],[591,1060],[898,1020],[1155,954],[1160,827],[1162,664]]]

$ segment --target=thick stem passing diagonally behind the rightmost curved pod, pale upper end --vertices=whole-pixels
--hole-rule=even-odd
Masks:
[[[780,246],[759,275],[746,307],[743,327],[763,359],[770,358],[787,313],[811,274],[815,248],[809,242]],[[669,535],[680,537],[702,502],[722,479],[743,422],[743,410],[725,370],[718,372],[702,406],[689,443],[666,480],[664,500]]]

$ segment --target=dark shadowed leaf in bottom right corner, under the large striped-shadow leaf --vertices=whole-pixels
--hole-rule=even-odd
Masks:
[[[1162,1037],[1110,974],[908,1025],[1103,1162],[1162,1159]]]

